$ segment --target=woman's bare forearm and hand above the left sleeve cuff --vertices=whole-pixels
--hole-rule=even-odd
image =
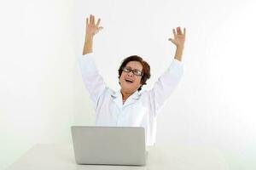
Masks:
[[[93,51],[93,37],[103,29],[100,26],[101,19],[98,19],[95,23],[94,15],[90,14],[90,20],[86,18],[86,31],[85,31],[85,41],[83,55],[90,54]]]

